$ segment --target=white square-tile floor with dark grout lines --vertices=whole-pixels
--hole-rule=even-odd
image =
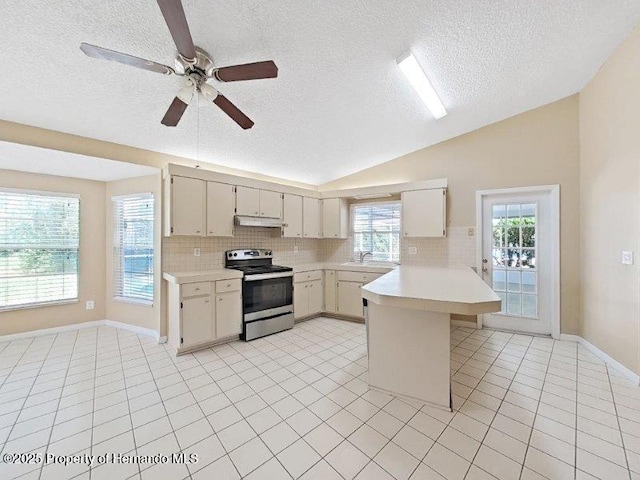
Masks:
[[[0,478],[640,479],[640,388],[575,343],[452,330],[448,413],[367,388],[364,326],[316,319],[173,357],[109,327],[0,343]],[[393,352],[390,352],[393,354]]]

